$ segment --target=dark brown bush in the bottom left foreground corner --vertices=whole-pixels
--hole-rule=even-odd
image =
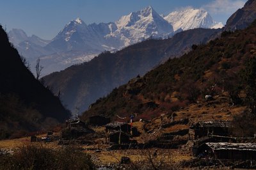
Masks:
[[[13,155],[0,155],[0,169],[95,169],[90,155],[74,146],[54,150],[22,146]]]

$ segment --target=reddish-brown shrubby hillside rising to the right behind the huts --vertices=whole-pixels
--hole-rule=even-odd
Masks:
[[[169,59],[143,77],[131,79],[99,98],[83,118],[102,114],[154,118],[172,113],[188,104],[205,100],[205,95],[227,93],[230,104],[255,109],[256,22],[207,45],[193,45],[181,58]]]

